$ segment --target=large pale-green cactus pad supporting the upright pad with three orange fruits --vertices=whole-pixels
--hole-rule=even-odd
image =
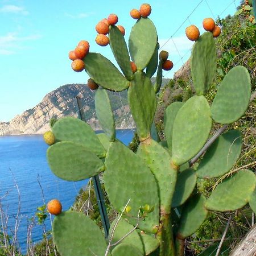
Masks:
[[[211,127],[212,119],[207,99],[204,96],[189,98],[174,120],[172,161],[180,166],[195,156],[207,141]]]

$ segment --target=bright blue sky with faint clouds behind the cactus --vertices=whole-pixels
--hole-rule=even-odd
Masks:
[[[240,0],[147,2],[152,7],[150,19],[158,31],[160,46],[166,43],[162,49],[170,52],[169,59],[174,62],[172,71],[163,75],[172,78],[190,56],[192,42],[185,37],[185,28],[195,24],[203,32],[204,18],[233,14]],[[95,26],[102,18],[115,13],[118,24],[126,29],[127,42],[135,23],[130,10],[139,9],[141,3],[143,1],[135,0],[0,0],[0,121],[10,121],[33,108],[61,85],[86,83],[88,75],[73,72],[68,59],[68,52],[80,40],[88,40],[91,52],[100,52],[115,63],[110,47],[100,47],[94,42]]]

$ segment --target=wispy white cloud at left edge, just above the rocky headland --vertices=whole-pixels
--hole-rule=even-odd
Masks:
[[[16,49],[22,48],[22,43],[41,38],[40,35],[19,36],[17,32],[10,32],[0,36],[0,55],[15,54]]]

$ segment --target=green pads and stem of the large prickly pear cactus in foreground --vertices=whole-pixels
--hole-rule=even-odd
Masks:
[[[221,134],[197,168],[189,164],[207,143],[213,121],[229,124],[245,113],[251,93],[249,72],[242,66],[232,68],[209,105],[204,94],[216,74],[217,54],[212,32],[204,32],[194,43],[190,61],[196,95],[168,106],[164,113],[166,141],[160,141],[154,114],[168,53],[158,55],[154,23],[139,11],[133,15],[138,20],[131,29],[129,47],[115,25],[109,28],[110,47],[122,73],[100,53],[88,52],[80,59],[86,63],[90,79],[100,85],[95,106],[104,132],[95,134],[86,122],[64,117],[50,123],[52,131],[46,134],[52,172],[68,181],[103,172],[109,201],[121,213],[105,237],[83,213],[67,210],[57,214],[53,240],[62,256],[183,255],[185,239],[199,229],[210,210],[233,211],[249,203],[256,211],[256,176],[250,170],[226,177],[209,198],[196,189],[197,179],[221,177],[236,164],[242,147],[240,131]],[[136,72],[131,69],[130,57]],[[136,154],[115,138],[107,90],[128,90],[141,141]],[[48,210],[51,212],[51,204]]]

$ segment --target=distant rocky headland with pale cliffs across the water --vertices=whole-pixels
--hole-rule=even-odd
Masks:
[[[16,115],[10,122],[0,122],[0,135],[40,134],[49,130],[51,118],[77,117],[76,96],[81,98],[86,122],[93,129],[100,129],[94,109],[94,92],[84,84],[68,84],[48,93],[38,105]],[[127,105],[127,92],[110,92],[109,97],[117,129],[134,127],[134,121]]]

